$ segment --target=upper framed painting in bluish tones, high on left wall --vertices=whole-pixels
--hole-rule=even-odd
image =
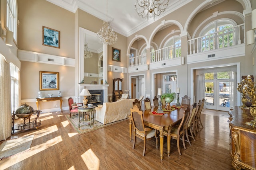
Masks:
[[[42,45],[59,49],[60,48],[60,31],[43,26]]]

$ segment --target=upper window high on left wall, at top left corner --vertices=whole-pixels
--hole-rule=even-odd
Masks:
[[[17,4],[16,0],[6,1],[6,27],[13,32],[13,38],[17,42]]]

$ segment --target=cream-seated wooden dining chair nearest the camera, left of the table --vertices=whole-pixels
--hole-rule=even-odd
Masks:
[[[146,142],[150,139],[156,138],[156,148],[158,148],[158,137],[156,135],[156,130],[144,125],[143,120],[143,111],[140,111],[139,108],[135,105],[131,110],[132,124],[133,124],[133,146],[135,148],[136,137],[144,141],[143,153],[145,156],[146,152]]]

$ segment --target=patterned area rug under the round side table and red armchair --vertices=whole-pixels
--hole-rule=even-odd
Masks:
[[[94,120],[94,123],[92,121],[92,127],[90,127],[90,121],[81,121],[82,117],[80,117],[80,127],[78,128],[78,115],[74,115],[71,118],[69,118],[69,115],[66,115],[66,118],[79,135],[128,120],[127,118],[120,121],[108,123],[106,125]]]

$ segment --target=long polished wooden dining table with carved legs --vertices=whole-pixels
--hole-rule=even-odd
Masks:
[[[143,111],[143,120],[144,125],[156,129],[159,131],[159,141],[160,141],[160,158],[163,160],[163,145],[164,145],[164,131],[168,131],[168,129],[175,126],[182,120],[183,113],[186,111],[188,105],[183,104],[182,106],[172,106],[178,109],[172,111],[164,111],[163,115],[153,115],[151,114],[153,111],[157,111],[158,107],[154,107],[151,109],[147,109]],[[162,106],[165,108],[165,106]],[[151,113],[150,113],[151,112]],[[130,141],[132,140],[132,117],[128,115],[129,130],[130,130]],[[170,143],[170,138],[167,143]],[[168,156],[170,156],[170,147],[167,149]]]

